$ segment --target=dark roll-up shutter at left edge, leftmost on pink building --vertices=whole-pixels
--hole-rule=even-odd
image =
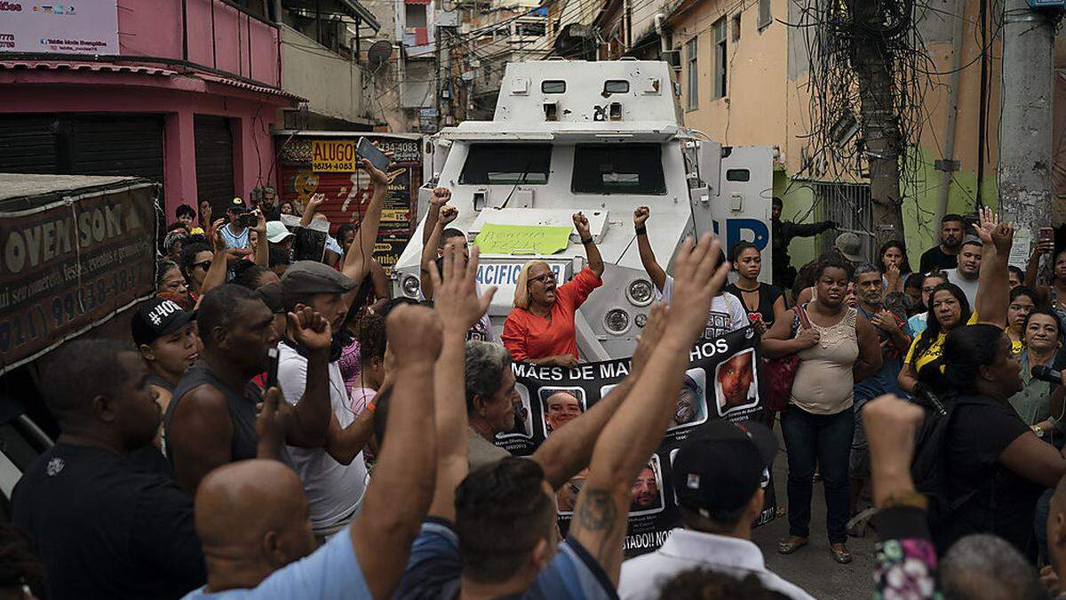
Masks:
[[[0,172],[60,173],[52,114],[0,114]]]

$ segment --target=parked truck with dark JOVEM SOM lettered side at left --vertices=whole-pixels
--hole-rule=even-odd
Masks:
[[[0,520],[58,428],[37,389],[78,337],[130,341],[156,290],[160,187],[135,177],[0,174]]]

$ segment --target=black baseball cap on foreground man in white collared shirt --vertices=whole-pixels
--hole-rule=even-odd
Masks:
[[[696,430],[674,457],[674,493],[682,508],[710,518],[737,510],[769,483],[777,438],[764,425],[712,421]]]

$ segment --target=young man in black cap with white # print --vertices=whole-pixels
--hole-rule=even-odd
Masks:
[[[195,319],[195,311],[185,312],[163,298],[152,298],[133,313],[133,343],[148,367],[148,384],[159,394],[156,401],[164,411],[174,388],[199,356]]]

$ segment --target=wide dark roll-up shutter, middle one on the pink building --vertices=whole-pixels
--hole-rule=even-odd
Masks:
[[[163,183],[163,115],[79,114],[69,123],[69,173]]]

